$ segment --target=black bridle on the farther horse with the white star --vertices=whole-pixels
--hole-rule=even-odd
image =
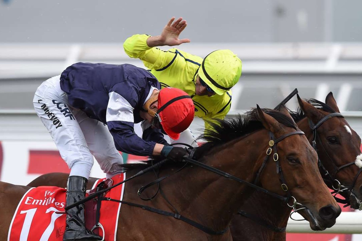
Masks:
[[[315,125],[313,124],[313,122],[312,122],[310,119],[308,119],[308,124],[309,124],[309,126],[310,126],[310,128],[312,129],[312,132],[313,132],[313,139],[312,139],[312,147],[313,147],[313,149],[317,151],[316,139],[317,139],[317,137],[318,137],[318,141],[319,141],[320,145],[322,146],[324,152],[327,154],[329,160],[331,160],[331,163],[332,163],[332,165],[333,165],[333,167],[334,167],[334,172],[333,172],[332,175],[331,175],[331,173],[329,173],[329,172],[327,171],[327,168],[324,167],[324,165],[322,164],[322,162],[320,161],[319,156],[318,156],[318,167],[319,167],[321,173],[323,173],[323,175],[322,175],[323,180],[324,180],[325,182],[330,182],[330,183],[332,184],[332,188],[333,188],[333,190],[334,190],[334,191],[332,192],[332,194],[333,194],[334,199],[336,199],[336,201],[339,202],[339,203],[346,204],[346,205],[345,205],[345,207],[346,207],[346,206],[350,205],[348,198],[346,198],[346,199],[341,199],[341,198],[337,198],[336,195],[337,195],[338,193],[341,193],[341,194],[342,194],[342,193],[344,193],[345,191],[348,191],[348,195],[350,195],[350,193],[353,193],[354,185],[355,185],[356,182],[357,182],[358,176],[359,176],[359,175],[361,174],[361,172],[362,172],[362,168],[359,169],[357,175],[354,177],[354,180],[353,180],[352,185],[350,186],[350,188],[348,188],[348,187],[346,187],[346,186],[344,186],[344,185],[341,185],[341,182],[338,181],[338,180],[335,178],[336,175],[337,175],[337,173],[338,173],[339,171],[341,171],[341,169],[343,169],[343,168],[345,168],[345,167],[349,167],[350,165],[353,165],[354,162],[350,162],[350,163],[341,165],[340,167],[337,167],[337,165],[333,162],[331,156],[328,155],[328,152],[327,152],[327,150],[325,149],[325,147],[324,147],[324,145],[323,145],[323,143],[322,143],[322,141],[321,141],[321,139],[320,139],[320,137],[319,137],[319,135],[318,135],[318,133],[317,133],[317,128],[318,128],[321,124],[323,124],[325,121],[331,119],[332,117],[342,117],[342,118],[344,118],[344,116],[343,116],[341,113],[337,113],[337,112],[336,112],[336,113],[331,113],[331,114],[323,117],[323,118],[322,118],[320,121],[318,121],[317,124],[315,124]]]

